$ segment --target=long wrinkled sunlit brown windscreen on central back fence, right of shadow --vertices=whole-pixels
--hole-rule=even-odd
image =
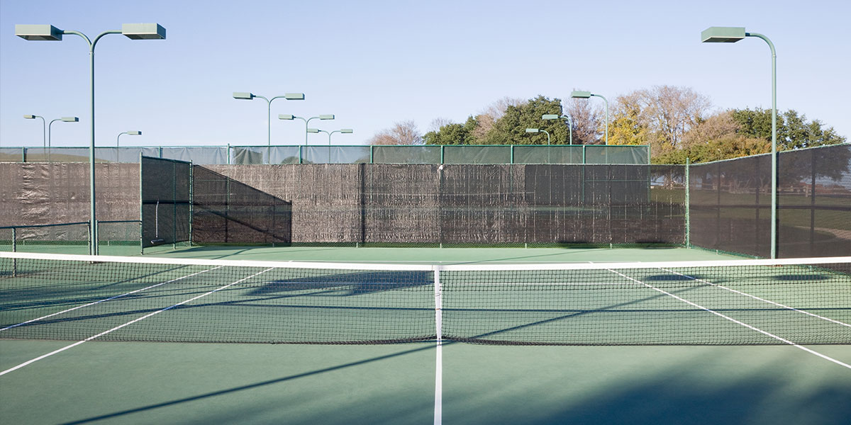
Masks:
[[[314,164],[213,169],[292,202],[294,243],[683,244],[685,239],[679,166]],[[198,231],[195,224],[193,234]]]

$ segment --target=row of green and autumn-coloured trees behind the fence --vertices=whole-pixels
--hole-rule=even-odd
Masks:
[[[565,116],[543,120],[541,116]],[[573,126],[568,127],[568,119]],[[597,99],[500,99],[465,122],[437,119],[421,134],[413,121],[397,122],[376,134],[370,144],[605,144],[604,104]],[[847,139],[819,120],[797,111],[778,111],[778,150]],[[717,161],[771,151],[771,110],[713,111],[710,100],[691,88],[655,86],[610,101],[608,144],[645,144],[660,164]]]

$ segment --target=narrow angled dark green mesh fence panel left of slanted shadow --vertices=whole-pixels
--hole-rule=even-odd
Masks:
[[[142,247],[189,241],[190,167],[142,156]]]

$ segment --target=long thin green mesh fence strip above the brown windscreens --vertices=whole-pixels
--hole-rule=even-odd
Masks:
[[[140,156],[217,164],[642,164],[644,145],[290,145],[102,147],[95,161],[138,162]],[[88,162],[89,148],[0,148],[0,162]]]

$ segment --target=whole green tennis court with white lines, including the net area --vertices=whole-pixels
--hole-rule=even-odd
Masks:
[[[677,263],[649,262],[659,258]],[[3,327],[33,320],[0,331],[11,422],[842,423],[851,414],[848,258],[229,246],[90,260],[0,258],[15,288]]]

